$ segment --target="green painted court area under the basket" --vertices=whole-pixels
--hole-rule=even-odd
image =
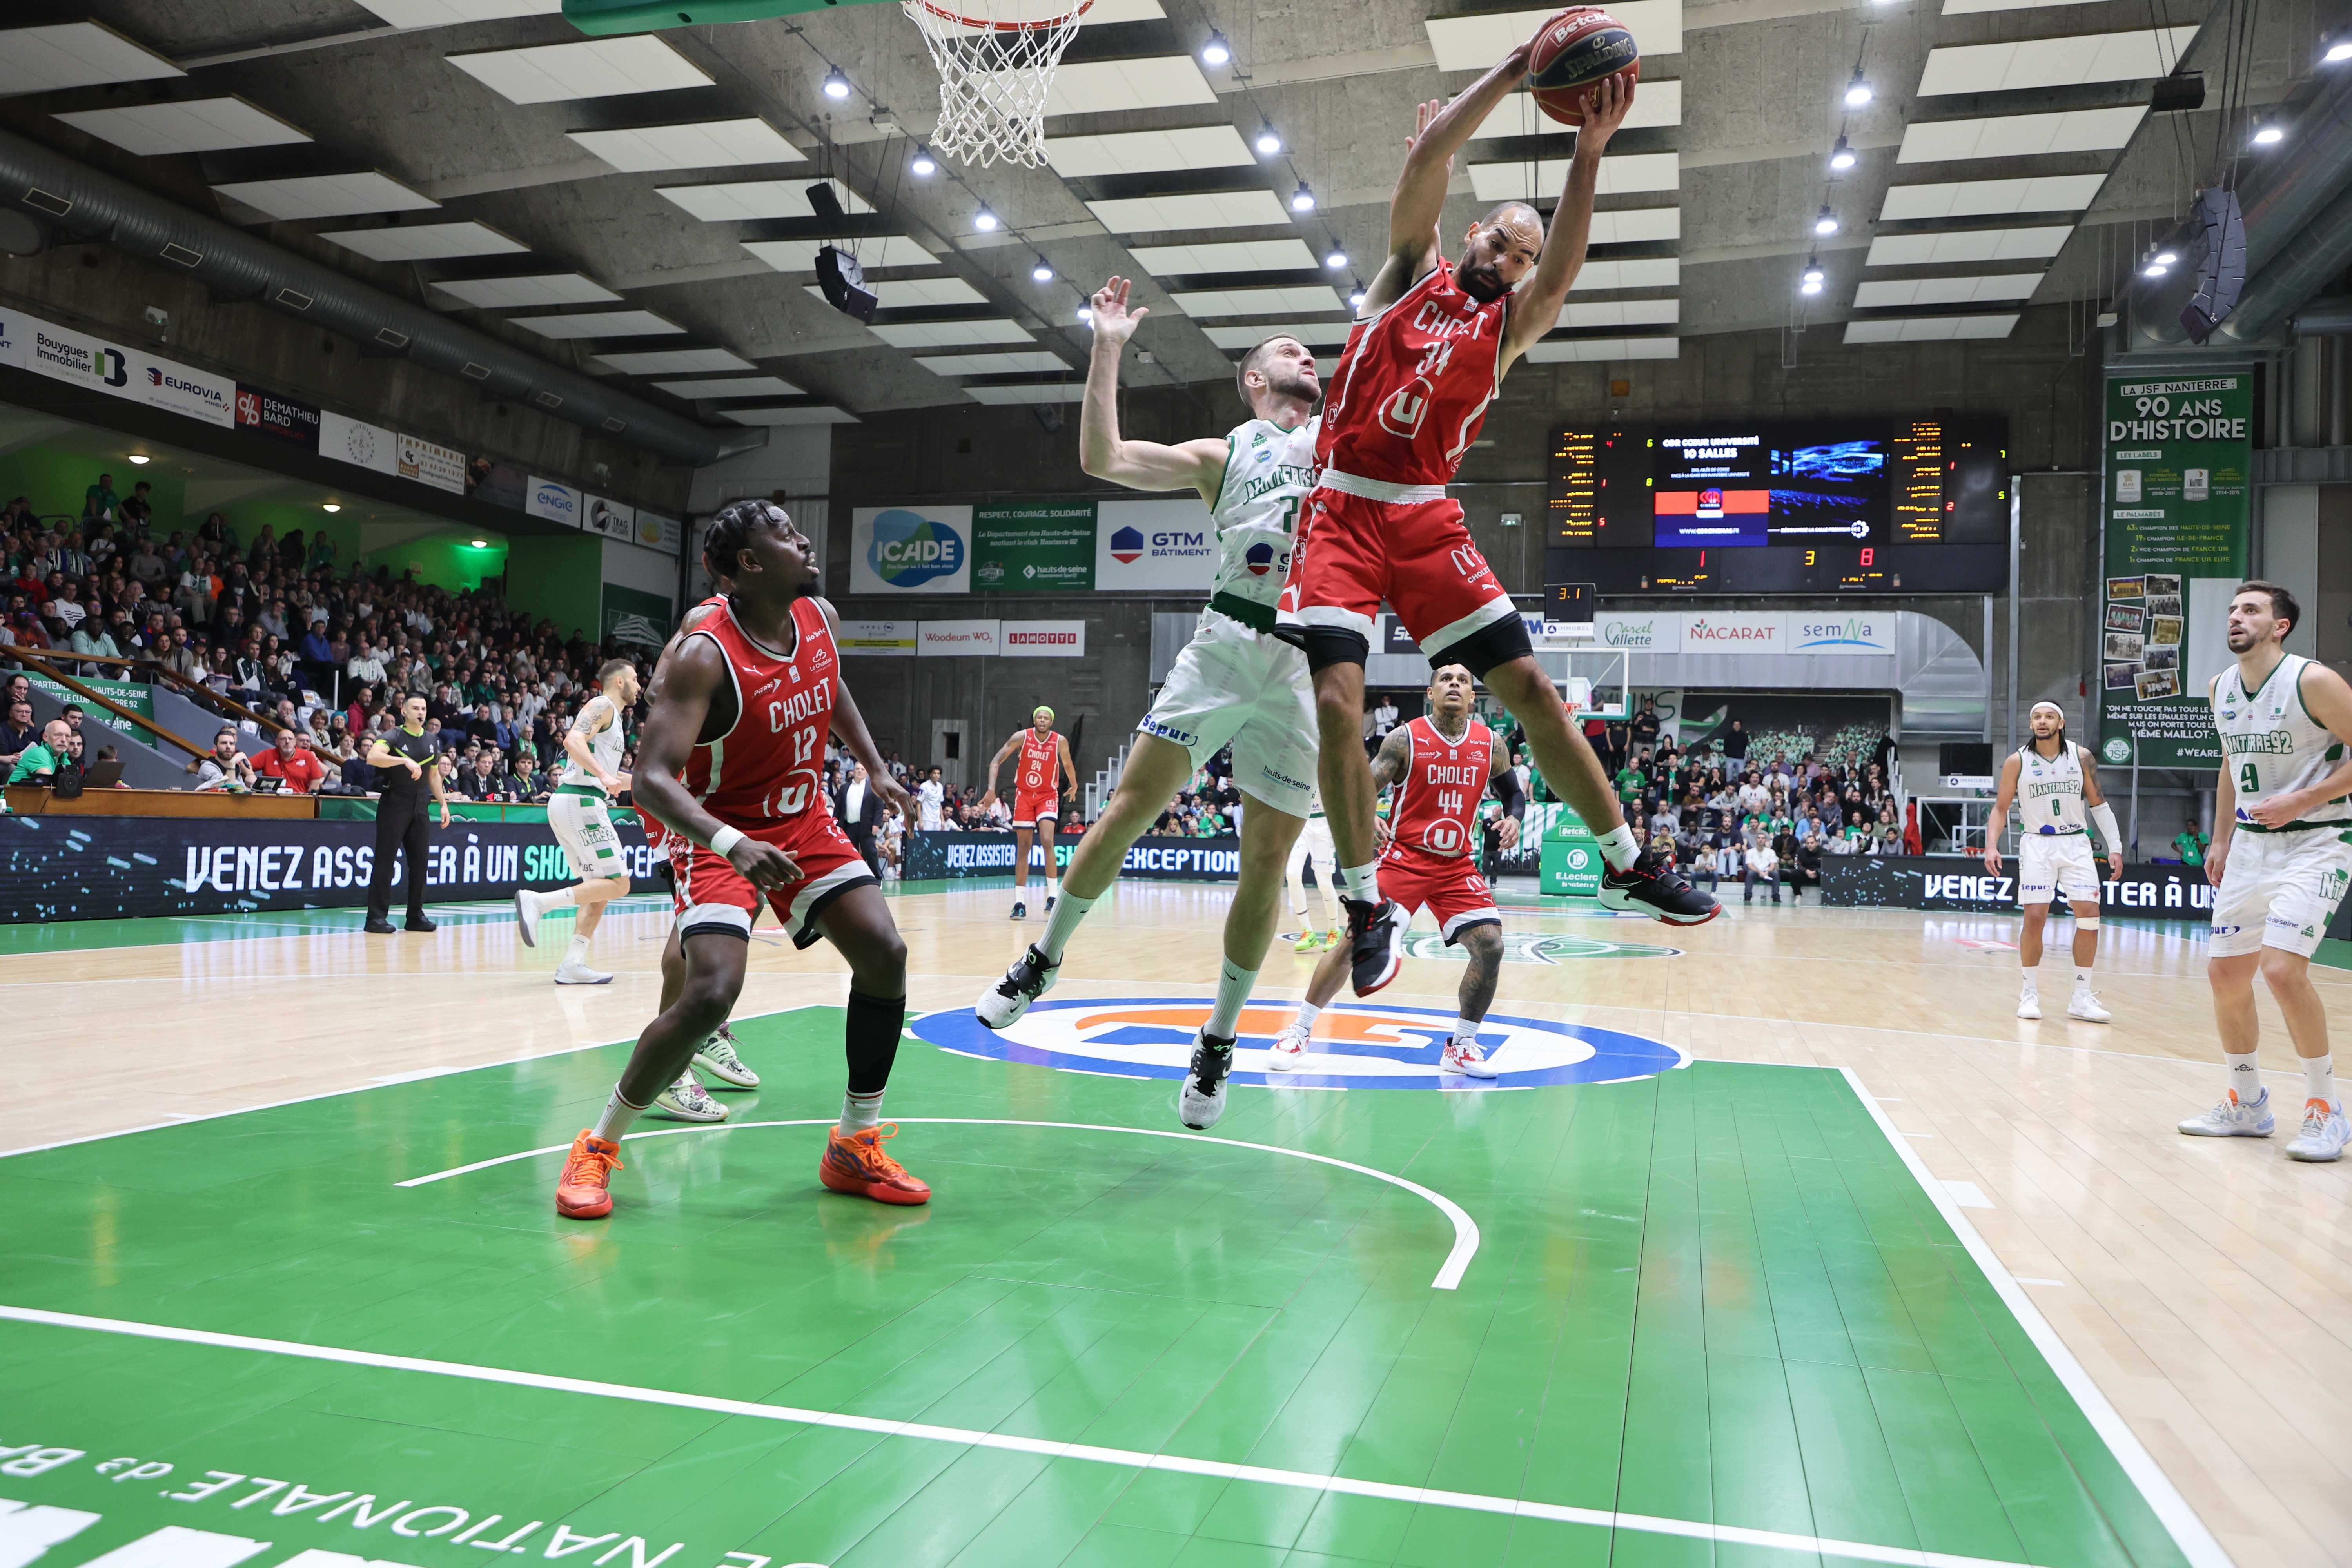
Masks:
[[[840,1016],[739,1034],[767,1088],[640,1124],[609,1222],[557,1154],[397,1182],[567,1143],[626,1046],[0,1161],[0,1566],[2185,1561],[1842,1074],[1190,1138],[910,1039],[906,1211],[816,1185]],[[1444,1208],[1284,1150],[1456,1204],[1458,1288]]]

